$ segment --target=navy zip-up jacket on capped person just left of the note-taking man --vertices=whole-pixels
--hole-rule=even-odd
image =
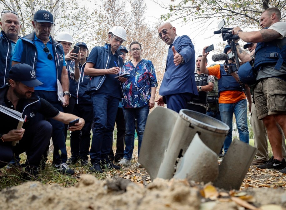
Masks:
[[[91,105],[91,98],[90,95],[88,95],[86,91],[86,87],[89,83],[90,77],[88,75],[84,74],[84,67],[86,62],[82,65],[79,64],[80,67],[80,75],[79,75],[79,81],[77,86],[77,104],[90,104]]]

